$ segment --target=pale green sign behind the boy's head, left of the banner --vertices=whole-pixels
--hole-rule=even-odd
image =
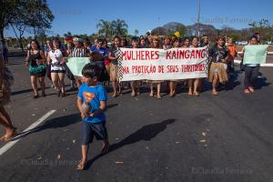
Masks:
[[[83,76],[82,70],[88,63],[90,63],[89,57],[69,57],[66,66],[69,67],[74,76]]]

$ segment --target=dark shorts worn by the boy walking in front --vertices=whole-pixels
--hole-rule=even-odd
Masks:
[[[83,146],[86,146],[89,143],[92,143],[94,136],[96,136],[97,140],[108,139],[105,121],[102,123],[88,123],[86,121],[83,121],[82,132],[83,132],[83,140],[82,140]]]

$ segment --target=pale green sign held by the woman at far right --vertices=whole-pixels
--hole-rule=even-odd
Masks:
[[[244,65],[266,63],[268,45],[246,45],[244,49]]]

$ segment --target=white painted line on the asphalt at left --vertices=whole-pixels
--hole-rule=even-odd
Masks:
[[[8,142],[7,144],[5,144],[5,146],[0,148],[0,156],[2,156],[9,148],[15,146],[15,144],[22,139],[21,136],[25,136],[25,134],[27,134],[28,132],[30,132],[32,129],[34,129],[36,126],[40,125],[41,123],[43,123],[45,121],[45,119],[51,115],[53,115],[56,112],[56,110],[51,110],[48,113],[46,113],[44,116],[42,116],[41,118],[39,118],[37,121],[35,121],[31,126],[28,126],[21,134],[19,134],[18,136],[15,137],[14,140]],[[18,138],[18,139],[16,139]]]

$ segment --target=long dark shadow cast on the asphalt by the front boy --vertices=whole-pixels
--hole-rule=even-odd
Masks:
[[[155,138],[160,132],[164,131],[167,128],[167,125],[171,125],[175,123],[177,119],[167,119],[164,121],[161,121],[160,123],[154,123],[147,126],[143,126],[140,129],[138,129],[133,134],[126,136],[123,140],[120,142],[117,142],[116,144],[112,144],[109,152],[114,152],[118,148],[125,147],[127,145],[135,144],[136,142],[139,142],[141,140],[151,140]],[[88,160],[86,164],[86,169],[92,166],[92,164],[100,157],[103,157],[104,155],[97,155],[96,157]]]

